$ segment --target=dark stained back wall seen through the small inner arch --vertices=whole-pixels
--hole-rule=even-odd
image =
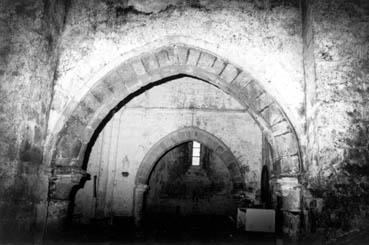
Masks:
[[[224,162],[202,145],[200,166],[191,166],[192,142],[164,155],[155,166],[146,197],[146,215],[234,216],[233,184]]]

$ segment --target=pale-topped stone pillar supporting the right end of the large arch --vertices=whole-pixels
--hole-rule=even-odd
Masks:
[[[297,240],[301,232],[301,185],[297,177],[282,177],[277,179],[276,184],[277,195],[282,199],[282,232],[292,240]]]

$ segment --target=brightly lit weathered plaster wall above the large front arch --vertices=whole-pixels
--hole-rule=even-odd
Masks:
[[[62,37],[50,132],[64,120],[65,105],[78,102],[99,76],[120,62],[169,43],[185,43],[250,72],[303,135],[301,18],[296,3],[277,3],[267,11],[253,1],[162,2],[159,7],[138,1],[73,1]]]

